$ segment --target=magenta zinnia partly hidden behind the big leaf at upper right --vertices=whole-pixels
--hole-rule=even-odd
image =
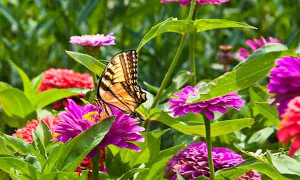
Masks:
[[[253,40],[246,40],[246,44],[251,47],[252,51],[257,50],[258,48],[262,47],[263,45],[267,43],[272,43],[272,42],[278,42],[281,43],[281,40],[273,38],[273,37],[268,37],[268,41],[265,40],[264,37],[260,37],[260,39],[253,39]],[[250,56],[250,52],[245,49],[245,48],[239,48],[239,54],[238,58],[241,60],[246,59],[248,56]]]

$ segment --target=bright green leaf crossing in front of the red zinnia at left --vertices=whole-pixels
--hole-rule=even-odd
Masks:
[[[56,89],[52,88],[49,90],[44,90],[38,92],[34,97],[34,105],[36,109],[42,108],[50,103],[53,103],[59,99],[85,93],[89,89],[84,88],[66,88],[66,89]]]

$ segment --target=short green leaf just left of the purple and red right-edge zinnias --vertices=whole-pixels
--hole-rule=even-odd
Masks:
[[[267,102],[255,102],[257,110],[270,120],[274,125],[279,125],[279,114],[276,106],[270,106]]]

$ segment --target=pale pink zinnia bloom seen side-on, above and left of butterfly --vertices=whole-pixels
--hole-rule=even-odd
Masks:
[[[81,36],[71,36],[70,43],[77,44],[81,46],[103,46],[103,45],[114,45],[113,33],[107,35],[95,34],[95,35],[81,35]]]

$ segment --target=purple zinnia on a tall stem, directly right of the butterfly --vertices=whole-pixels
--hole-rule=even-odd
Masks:
[[[232,107],[236,110],[239,110],[239,106],[244,104],[244,100],[242,100],[239,95],[236,95],[237,91],[213,99],[192,104],[185,104],[187,98],[196,95],[195,91],[200,87],[200,85],[195,87],[187,85],[186,87],[182,88],[182,92],[174,93],[176,97],[168,100],[170,103],[169,109],[172,110],[174,116],[184,115],[188,112],[200,113],[204,110],[205,116],[209,119],[213,119],[214,111],[225,113],[227,111],[225,107]]]

